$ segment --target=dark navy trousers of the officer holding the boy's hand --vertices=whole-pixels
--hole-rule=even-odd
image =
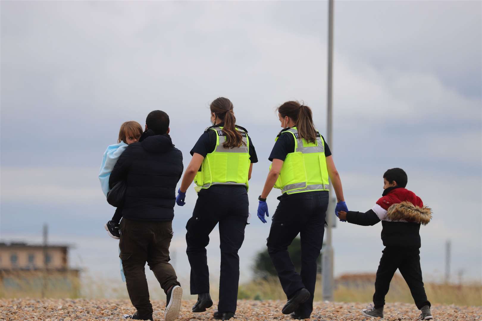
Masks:
[[[268,236],[269,257],[288,299],[301,288],[309,291],[309,299],[295,311],[302,317],[309,317],[313,311],[317,261],[323,245],[328,192],[283,194],[278,199],[280,204],[273,215]],[[288,253],[288,245],[298,233],[301,239],[300,274],[295,271]]]

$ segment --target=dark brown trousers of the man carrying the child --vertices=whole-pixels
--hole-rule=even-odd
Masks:
[[[143,221],[123,218],[120,222],[120,259],[124,268],[127,292],[139,316],[152,315],[146,273],[147,265],[154,272],[164,292],[177,282],[169,264],[169,245],[173,237],[172,221]]]

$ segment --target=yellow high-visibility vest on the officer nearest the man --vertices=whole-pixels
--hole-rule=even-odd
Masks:
[[[224,148],[226,135],[223,127],[213,127],[209,130],[216,133],[216,147],[213,153],[204,157],[201,171],[198,171],[194,182],[202,188],[209,188],[211,185],[242,185],[248,189],[248,173],[251,160],[249,157],[248,135],[241,128],[236,128],[242,135],[241,146]]]

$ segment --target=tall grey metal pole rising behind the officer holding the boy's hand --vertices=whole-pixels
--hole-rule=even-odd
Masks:
[[[328,88],[326,94],[326,136],[328,137],[328,146],[333,151],[333,0],[328,1]],[[330,204],[332,198],[332,184],[330,181]],[[333,257],[334,249],[332,246],[332,226],[333,226],[333,210],[332,206],[328,206],[326,213],[326,244],[323,246],[322,255],[322,291],[323,300],[333,301]]]

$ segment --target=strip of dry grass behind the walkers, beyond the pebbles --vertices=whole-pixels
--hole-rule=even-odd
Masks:
[[[213,277],[214,279],[214,277]],[[32,283],[25,279],[19,278],[17,280],[21,287],[16,289],[5,289],[0,286],[0,297],[41,297],[41,291],[38,283]],[[75,278],[69,281],[72,284],[79,282]],[[184,287],[184,296],[186,299],[193,298],[189,295],[188,280],[180,280]],[[82,276],[79,291],[72,291],[71,289],[55,287],[54,284],[58,282],[48,283],[45,297],[61,298],[61,297],[84,297],[84,298],[115,298],[128,299],[125,283],[120,282],[120,278],[95,278],[88,274]],[[148,278],[150,297],[154,300],[164,300],[165,295],[157,280]],[[211,285],[211,295],[213,298],[218,297],[219,283]],[[443,283],[425,283],[425,290],[428,299],[432,304],[455,304],[458,306],[482,306],[482,286],[480,282],[472,284],[453,285]],[[374,292],[373,282],[364,282],[358,284],[357,287],[347,287],[338,285],[335,289],[336,302],[371,302]],[[285,294],[281,288],[280,282],[277,278],[270,278],[268,280],[256,280],[252,282],[241,283],[238,291],[239,299],[252,300],[284,300]],[[390,284],[390,291],[388,292],[387,302],[404,302],[412,303],[413,299],[408,289],[407,284],[401,277],[396,277]],[[315,290],[315,301],[322,301],[321,297],[321,279],[317,281]]]

